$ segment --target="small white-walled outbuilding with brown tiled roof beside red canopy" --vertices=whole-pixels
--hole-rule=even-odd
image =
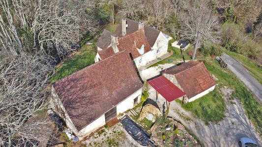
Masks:
[[[199,61],[189,61],[171,67],[166,69],[163,75],[186,94],[185,97],[179,98],[184,103],[203,97],[213,91],[216,85],[204,63]]]

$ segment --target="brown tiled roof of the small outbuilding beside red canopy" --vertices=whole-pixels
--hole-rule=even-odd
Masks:
[[[167,69],[164,73],[175,75],[178,84],[188,98],[192,98],[216,84],[203,62],[189,61]]]

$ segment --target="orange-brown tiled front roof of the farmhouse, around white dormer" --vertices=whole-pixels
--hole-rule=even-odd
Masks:
[[[151,50],[143,30],[137,30],[129,35],[120,37],[118,39],[118,42],[119,42],[119,44],[117,45],[118,50],[119,51],[125,49],[128,50],[128,52],[131,53],[133,59],[141,56],[137,48],[140,49],[143,44],[145,45],[145,53]],[[98,54],[103,60],[107,57],[112,56],[114,54],[114,50],[112,47],[109,47],[108,49],[98,51]]]

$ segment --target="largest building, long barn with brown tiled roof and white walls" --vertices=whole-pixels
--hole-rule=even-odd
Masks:
[[[141,101],[143,84],[127,50],[52,86],[51,105],[80,140]]]

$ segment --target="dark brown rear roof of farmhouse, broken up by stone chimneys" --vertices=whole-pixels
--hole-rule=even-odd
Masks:
[[[138,30],[138,24],[139,24],[138,22],[126,19],[126,23],[128,24],[128,28],[126,28],[126,34],[127,35]],[[152,27],[146,26],[146,25],[145,25],[144,28],[145,28],[146,39],[147,39],[150,47],[153,47],[160,31],[157,30],[157,29],[154,29]],[[122,21],[120,22],[120,24],[116,28],[115,34],[118,37],[122,36]]]

